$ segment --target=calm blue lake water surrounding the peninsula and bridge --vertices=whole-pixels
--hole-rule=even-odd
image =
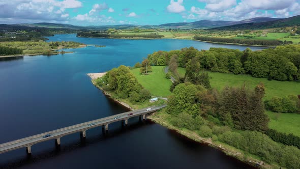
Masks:
[[[3,59],[0,62],[0,144],[127,111],[96,89],[86,73],[134,65],[148,53],[193,46],[198,49],[246,46],[188,40],[119,40],[56,35],[49,41],[106,45],[67,49],[74,53]],[[253,50],[261,49],[251,47]],[[158,124],[129,120],[25,149],[0,154],[0,168],[251,168],[211,147],[194,143]]]

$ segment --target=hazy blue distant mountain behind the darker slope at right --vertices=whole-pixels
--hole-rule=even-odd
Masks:
[[[269,18],[269,17],[256,17],[251,19],[245,19],[241,21],[223,21],[223,20],[199,20],[195,22],[179,22],[179,23],[165,23],[160,24],[159,26],[162,27],[173,27],[173,28],[192,28],[192,29],[207,29],[207,28],[214,28],[214,27],[221,27],[221,26],[228,26],[228,25],[235,25],[235,24],[242,24],[242,23],[260,23],[266,21],[273,21],[279,20],[278,18]]]

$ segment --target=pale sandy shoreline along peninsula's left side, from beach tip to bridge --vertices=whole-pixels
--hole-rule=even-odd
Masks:
[[[124,106],[125,108],[129,109],[130,111],[134,110],[129,104],[124,103],[124,102],[122,102],[122,101],[120,101],[120,100],[116,100],[116,99],[112,98],[112,97],[111,97],[111,94],[109,94],[108,92],[106,92],[105,90],[103,90],[101,87],[99,87],[99,86],[96,84],[95,79],[104,76],[106,73],[107,73],[107,72],[104,72],[104,73],[87,73],[86,75],[89,76],[89,77],[92,79],[91,81],[92,81],[93,85],[94,85],[96,88],[98,88],[99,90],[101,90],[102,93],[103,93],[105,96],[107,96],[109,99],[111,99],[111,100],[113,100],[114,102],[116,102],[116,103],[118,103],[118,104]],[[93,75],[95,75],[95,76],[93,76]],[[97,77],[97,78],[96,78],[96,77]]]

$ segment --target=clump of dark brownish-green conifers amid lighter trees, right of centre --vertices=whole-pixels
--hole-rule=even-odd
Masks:
[[[251,91],[244,85],[242,88],[225,87],[218,104],[218,114],[223,124],[239,130],[265,131],[268,118],[264,114],[262,98],[263,86]]]

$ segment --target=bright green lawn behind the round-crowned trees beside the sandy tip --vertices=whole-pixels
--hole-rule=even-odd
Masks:
[[[140,74],[140,69],[133,69],[131,72],[138,79],[139,83],[148,89],[152,95],[158,97],[170,96],[169,91],[172,82],[165,77],[164,68],[165,66],[153,66],[151,73],[148,75]]]

